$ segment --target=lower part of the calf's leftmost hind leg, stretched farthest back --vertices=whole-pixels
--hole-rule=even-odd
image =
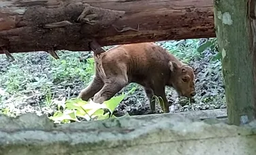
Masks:
[[[86,88],[80,91],[78,98],[88,101],[88,99],[93,97],[93,95],[95,95],[95,93],[97,93],[103,87],[103,85],[103,81],[98,76],[95,76],[93,81]]]

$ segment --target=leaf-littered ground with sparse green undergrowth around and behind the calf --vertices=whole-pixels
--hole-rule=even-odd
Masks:
[[[204,39],[199,40],[202,43]],[[193,41],[192,41],[193,42]],[[177,100],[176,91],[166,87],[167,99],[172,112],[191,110],[208,110],[226,108],[221,62],[211,62],[216,51],[206,49],[200,56],[195,56],[194,41],[177,42],[183,49],[175,49],[180,53],[181,60],[189,59],[189,64],[195,69],[195,87],[197,95],[189,101],[182,97]],[[173,41],[162,41],[159,45],[168,47]],[[184,45],[183,45],[184,44]],[[176,47],[175,47],[176,48]],[[170,50],[174,46],[170,47]],[[169,49],[168,49],[169,50]],[[189,53],[190,52],[190,53]],[[193,53],[194,52],[194,53]],[[92,52],[59,51],[60,60],[54,60],[44,52],[14,53],[16,59],[9,62],[4,55],[0,56],[0,110],[2,113],[18,115],[35,112],[39,115],[51,116],[57,106],[51,104],[52,99],[77,97],[81,89],[91,81],[92,74],[89,61]],[[182,57],[182,54],[185,57]],[[121,116],[128,112],[130,115],[146,114],[149,110],[146,95],[140,85],[131,84],[123,91],[137,87],[135,93],[125,97],[114,114]],[[121,92],[120,92],[121,93]],[[120,94],[118,93],[118,94]],[[116,95],[118,95],[116,94]],[[157,108],[160,110],[160,108]]]

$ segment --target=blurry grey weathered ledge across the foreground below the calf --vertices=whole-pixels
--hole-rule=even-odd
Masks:
[[[54,125],[46,116],[0,116],[0,155],[255,155],[256,123],[244,127],[179,114]]]

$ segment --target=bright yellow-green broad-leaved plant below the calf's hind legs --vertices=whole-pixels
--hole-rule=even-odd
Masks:
[[[134,93],[135,87],[131,89],[128,93],[122,93],[121,95],[114,96],[103,104],[97,104],[91,99],[89,102],[83,101],[79,98],[69,99],[65,102],[65,98],[59,102],[58,110],[53,116],[49,118],[54,120],[55,123],[70,123],[71,120],[78,121],[78,118],[84,118],[85,120],[102,120],[111,117],[113,115],[114,109],[120,104],[120,102],[130,93]],[[61,110],[63,108],[63,110]],[[108,110],[105,113],[104,110]]]

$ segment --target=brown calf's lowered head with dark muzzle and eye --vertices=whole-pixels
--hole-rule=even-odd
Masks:
[[[176,89],[178,95],[188,98],[193,97],[195,93],[195,74],[193,68],[187,64],[178,66],[176,62],[169,62],[171,70],[170,85]]]

